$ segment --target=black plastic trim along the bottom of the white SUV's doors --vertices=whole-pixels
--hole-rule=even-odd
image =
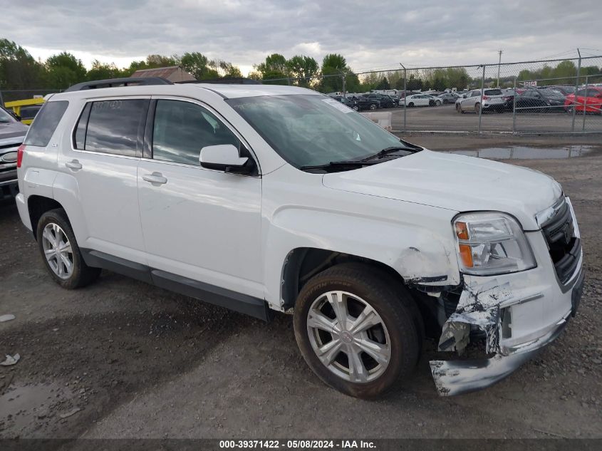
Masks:
[[[271,320],[272,312],[264,299],[224,289],[220,286],[205,284],[204,282],[188,279],[187,277],[178,276],[177,274],[160,269],[152,269],[150,266],[105,254],[104,252],[81,248],[80,251],[85,264],[88,266],[108,269],[109,271],[147,282],[147,284],[175,291],[176,293],[199,299],[199,301],[225,307],[239,313],[245,313],[264,321]]]

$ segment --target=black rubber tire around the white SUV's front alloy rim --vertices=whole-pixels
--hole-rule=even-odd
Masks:
[[[358,398],[378,397],[392,388],[402,375],[407,375],[416,364],[417,351],[411,352],[410,349],[412,346],[418,346],[412,314],[405,309],[400,300],[395,300],[394,291],[386,286],[382,287],[382,290],[389,291],[389,296],[387,296],[389,302],[380,299],[379,296],[374,296],[365,284],[354,283],[348,277],[318,275],[315,279],[314,283],[310,281],[301,290],[294,312],[295,338],[303,358],[318,375],[318,378],[332,388]],[[328,291],[347,291],[360,297],[370,304],[383,319],[390,339],[391,358],[388,367],[379,378],[368,383],[351,383],[328,370],[313,351],[308,337],[307,315],[313,301]],[[391,301],[396,302],[390,304]],[[405,352],[406,349],[410,352]]]

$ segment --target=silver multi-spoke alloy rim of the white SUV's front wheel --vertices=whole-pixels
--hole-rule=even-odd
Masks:
[[[346,291],[328,291],[307,314],[309,341],[321,363],[338,377],[368,383],[388,367],[391,345],[383,318]]]

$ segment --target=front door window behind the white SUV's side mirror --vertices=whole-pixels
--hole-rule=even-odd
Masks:
[[[152,158],[185,165],[199,165],[201,149],[208,145],[240,141],[209,110],[181,100],[157,100],[152,130]]]

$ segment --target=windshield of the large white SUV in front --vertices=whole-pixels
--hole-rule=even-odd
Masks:
[[[403,142],[341,102],[323,95],[266,95],[226,100],[295,167],[360,160]]]

